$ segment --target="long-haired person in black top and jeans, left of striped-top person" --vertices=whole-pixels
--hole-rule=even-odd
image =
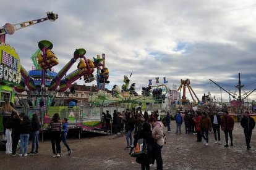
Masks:
[[[35,153],[38,154],[38,147],[39,147],[38,136],[39,136],[39,129],[40,129],[40,123],[38,121],[38,117],[36,113],[32,115],[31,126],[32,126],[32,148],[29,155],[34,155]]]

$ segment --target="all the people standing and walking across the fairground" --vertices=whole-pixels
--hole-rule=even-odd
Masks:
[[[28,118],[25,113],[18,114],[12,103],[8,101],[2,105],[4,115],[4,138],[6,143],[6,154],[27,156],[38,154],[39,149],[39,131],[40,123],[38,116],[32,115],[32,119]],[[158,111],[153,111],[149,115],[147,111],[113,111],[111,113],[106,110],[106,113],[101,114],[102,129],[108,132],[113,132],[114,136],[124,133],[126,134],[126,147],[124,149],[134,149],[139,139],[145,139],[147,144],[147,154],[137,156],[137,163],[141,164],[142,169],[150,169],[150,164],[156,161],[156,168],[163,169],[163,159],[161,157],[161,149],[164,145],[164,126],[167,127],[166,132],[171,132],[171,114],[166,112],[165,118],[160,120]],[[234,119],[229,115],[228,111],[224,111],[223,115],[218,115],[216,110],[213,111],[185,111],[182,114],[180,111],[174,116],[176,122],[175,134],[182,134],[182,124],[184,123],[185,133],[197,135],[196,142],[202,142],[204,145],[209,145],[208,133],[213,131],[215,144],[222,144],[221,131],[224,132],[225,143],[224,147],[233,146],[233,129]],[[67,144],[67,132],[69,131],[66,118],[60,119],[59,114],[55,113],[49,119],[49,132],[51,139],[51,147],[53,157],[61,156],[61,141],[67,148],[68,155],[72,153]],[[249,116],[249,112],[245,111],[244,117],[241,119],[241,126],[244,129],[246,147],[249,150],[252,130],[255,127],[255,121]],[[32,139],[31,152],[28,150],[28,139]],[[20,140],[19,153],[16,153],[17,146]],[[230,140],[230,141],[229,141]]]

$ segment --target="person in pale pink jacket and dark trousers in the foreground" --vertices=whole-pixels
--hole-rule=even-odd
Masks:
[[[150,118],[150,124],[153,127],[152,137],[156,140],[155,142],[155,158],[156,158],[156,168],[159,170],[163,169],[163,159],[161,155],[161,149],[164,145],[164,134],[163,134],[163,123],[156,121],[155,117]]]

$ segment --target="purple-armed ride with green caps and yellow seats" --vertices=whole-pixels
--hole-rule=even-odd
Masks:
[[[90,60],[85,57],[85,49],[76,49],[72,59],[56,73],[53,71],[54,66],[59,64],[58,57],[53,52],[53,44],[48,40],[38,42],[38,51],[32,56],[33,70],[26,71],[21,67],[22,81],[19,86],[15,87],[17,93],[26,91],[28,98],[34,107],[40,106],[47,108],[51,105],[57,92],[70,92],[71,84],[77,79],[82,78],[85,83],[95,80],[93,72],[95,68],[105,69],[108,75],[108,68],[103,68],[102,59]],[[67,75],[67,71],[79,59],[77,70]],[[47,88],[48,87],[48,88]],[[41,104],[40,104],[41,103]]]

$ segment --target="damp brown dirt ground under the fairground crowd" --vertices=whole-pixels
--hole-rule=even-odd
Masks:
[[[164,129],[166,131],[166,129]],[[236,123],[233,131],[233,147],[224,148],[214,144],[214,135],[209,134],[209,145],[195,142],[197,137],[174,134],[176,123],[171,122],[171,133],[166,133],[167,143],[162,148],[164,169],[256,169],[256,135],[252,134],[251,150],[245,147],[242,127]],[[49,140],[40,142],[38,155],[12,156],[0,151],[0,169],[140,169],[135,158],[129,155],[124,134],[120,136],[92,136],[82,139],[67,139],[74,150],[70,156],[63,152],[60,158],[52,158]],[[64,145],[61,144],[62,150]],[[31,145],[28,145],[28,152]],[[151,169],[156,169],[151,167]]]

